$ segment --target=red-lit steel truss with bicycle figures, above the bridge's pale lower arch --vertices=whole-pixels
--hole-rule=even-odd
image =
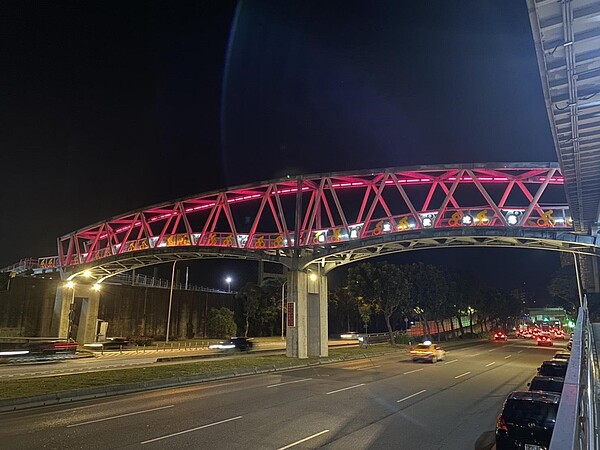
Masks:
[[[421,166],[301,176],[189,197],[58,239],[64,268],[152,249],[292,256],[421,229],[572,229],[558,164]],[[297,232],[296,230],[299,230]]]

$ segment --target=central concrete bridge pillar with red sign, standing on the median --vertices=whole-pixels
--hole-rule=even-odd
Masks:
[[[327,276],[318,267],[291,270],[287,283],[287,356],[327,356]]]

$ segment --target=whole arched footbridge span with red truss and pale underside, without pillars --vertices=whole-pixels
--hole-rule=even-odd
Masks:
[[[419,166],[300,176],[195,195],[58,239],[70,278],[98,282],[180,259],[235,257],[325,274],[385,253],[511,246],[593,253],[572,234],[556,163]]]

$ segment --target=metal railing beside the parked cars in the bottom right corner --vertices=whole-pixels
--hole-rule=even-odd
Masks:
[[[571,357],[558,406],[550,450],[598,448],[597,360],[587,302],[579,308]]]

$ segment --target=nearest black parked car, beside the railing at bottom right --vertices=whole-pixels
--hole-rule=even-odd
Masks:
[[[556,392],[511,392],[496,421],[496,449],[547,449],[559,401]]]

